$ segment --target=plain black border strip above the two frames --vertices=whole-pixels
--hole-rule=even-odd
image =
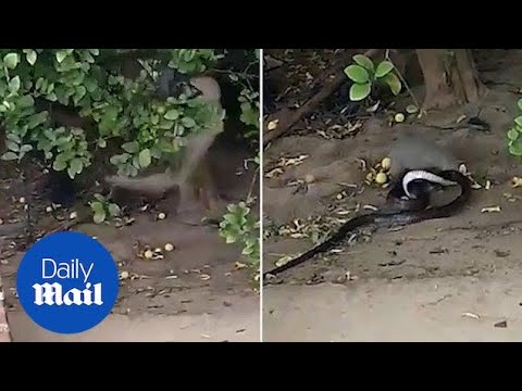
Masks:
[[[104,9],[89,3],[88,8],[71,8],[74,11],[69,14],[49,7],[20,15],[17,9],[5,7],[0,42],[3,47],[50,48],[476,49],[517,47],[520,24],[512,7],[495,3],[462,9],[445,3],[368,1],[301,2],[288,8],[259,2],[151,3],[144,4],[149,5],[145,9],[132,4],[112,13],[107,3]]]

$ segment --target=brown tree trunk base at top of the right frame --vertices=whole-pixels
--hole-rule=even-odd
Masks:
[[[417,49],[425,96],[422,109],[474,103],[486,92],[469,49]]]

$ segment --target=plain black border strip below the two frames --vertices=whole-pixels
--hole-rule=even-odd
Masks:
[[[214,346],[214,348],[213,348]],[[161,382],[178,388],[209,382],[213,387],[278,389],[287,380],[300,391],[341,388],[387,388],[440,382],[445,388],[471,389],[489,380],[498,388],[520,366],[520,343],[2,343],[2,389],[29,386],[67,389],[85,382],[91,388],[114,381],[137,387]],[[266,355],[263,354],[263,351]],[[512,355],[509,352],[512,351]],[[225,355],[225,352],[227,354]],[[520,370],[520,369],[519,369]],[[108,376],[105,376],[105,374]],[[22,376],[21,376],[22,375]],[[74,379],[66,381],[69,375]],[[515,380],[517,381],[517,380]],[[25,388],[25,387],[24,387]],[[47,388],[47,387],[46,387]],[[199,387],[198,387],[199,388]],[[373,387],[371,387],[373,388]]]

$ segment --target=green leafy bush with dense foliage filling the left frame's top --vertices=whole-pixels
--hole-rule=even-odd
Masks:
[[[259,50],[246,52],[251,64],[259,63]],[[92,164],[97,151],[104,150],[119,174],[136,176],[177,154],[188,134],[222,121],[219,108],[188,92],[158,98],[160,66],[166,63],[183,74],[198,75],[224,55],[214,49],[0,49],[0,121],[7,147],[1,157],[20,163],[37,152],[49,167],[66,171],[74,179]],[[123,72],[130,60],[141,65],[133,77]],[[247,71],[229,76],[243,86],[237,99],[245,136],[257,140],[259,93]],[[259,72],[253,71],[256,78]],[[84,125],[60,123],[53,115],[57,104]],[[108,149],[109,141],[115,141],[115,151]],[[89,204],[98,223],[121,212],[100,194]],[[239,213],[236,207],[245,211],[240,205],[231,205],[235,211],[231,213]],[[259,223],[249,211],[238,222],[244,253],[254,256],[259,240],[256,244],[254,235],[247,232]]]

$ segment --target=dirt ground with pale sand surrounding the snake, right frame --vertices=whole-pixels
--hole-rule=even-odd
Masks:
[[[510,186],[521,162],[506,152],[506,131],[517,114],[522,51],[485,50],[476,56],[481,78],[489,92],[480,104],[430,114],[423,125],[389,127],[370,116],[359,121],[357,136],[326,139],[328,129],[347,122],[314,113],[264,153],[265,174],[282,156],[306,155],[302,163],[264,178],[265,229],[302,225],[309,217],[334,216],[333,210],[378,205],[386,190],[363,185],[365,172],[357,159],[380,161],[403,131],[425,135],[446,146],[482,185],[464,210],[445,219],[400,230],[364,235],[341,253],[315,257],[285,272],[263,288],[265,341],[487,341],[522,338],[522,192]],[[290,67],[303,68],[290,62]],[[312,73],[313,76],[313,73]],[[310,77],[309,77],[310,79]],[[306,88],[306,87],[304,87]],[[413,87],[422,101],[422,88]],[[410,104],[405,94],[397,106]],[[478,110],[490,133],[469,128],[443,130]],[[307,187],[288,186],[312,175]],[[345,184],[345,185],[339,185]],[[357,185],[356,188],[347,187]],[[337,199],[345,190],[345,197]],[[486,206],[500,212],[482,213]],[[348,216],[343,216],[349,218]],[[337,216],[339,217],[339,216]],[[312,245],[310,238],[271,235],[263,247],[263,269],[284,255]]]

